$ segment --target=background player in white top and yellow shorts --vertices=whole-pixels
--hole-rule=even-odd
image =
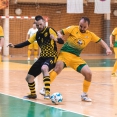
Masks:
[[[30,28],[28,30],[28,33],[27,33],[27,37],[26,37],[26,40],[28,40],[33,34],[35,34],[36,32],[38,31],[37,27],[36,27],[36,23],[34,22],[33,23],[33,27]],[[30,60],[30,56],[31,56],[31,53],[32,51],[34,51],[34,60],[36,61],[37,60],[37,56],[38,56],[38,44],[37,44],[37,41],[34,41],[34,43],[30,44],[28,46],[28,59],[27,60]]]

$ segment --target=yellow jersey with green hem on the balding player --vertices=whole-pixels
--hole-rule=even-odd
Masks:
[[[69,34],[66,43],[61,48],[61,51],[69,52],[77,56],[88,45],[89,42],[99,42],[101,39],[93,32],[87,30],[85,33],[81,33],[79,26],[69,26],[62,29],[63,34]]]

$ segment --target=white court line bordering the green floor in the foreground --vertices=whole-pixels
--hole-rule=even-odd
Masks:
[[[19,97],[17,97],[17,96],[12,96],[12,95],[5,94],[5,93],[1,93],[1,92],[0,92],[0,94],[6,95],[6,96],[10,96],[10,97],[14,97],[14,98],[18,98],[18,99],[21,99],[21,100],[26,100],[26,101],[33,102],[33,103],[37,103],[37,104],[41,104],[41,105],[45,105],[45,106],[48,106],[48,107],[57,108],[57,107],[55,107],[55,106],[49,106],[49,105],[46,105],[46,104],[43,104],[43,103],[40,103],[40,102],[35,102],[35,101],[32,101],[32,100],[27,100],[27,99],[19,98]],[[75,114],[80,114],[80,115],[83,115],[83,116],[93,117],[93,116],[90,116],[90,115],[85,115],[85,114],[82,114],[82,113],[76,113],[76,112],[74,112],[74,111],[65,110],[65,109],[63,109],[63,108],[57,108],[57,109],[61,109],[62,112],[67,111],[67,112],[72,112],[72,113],[75,113]]]

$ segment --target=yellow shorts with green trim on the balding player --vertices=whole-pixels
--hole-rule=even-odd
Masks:
[[[80,72],[82,67],[86,65],[86,62],[81,57],[68,52],[60,52],[57,61],[63,61],[66,66],[69,66],[78,72]]]

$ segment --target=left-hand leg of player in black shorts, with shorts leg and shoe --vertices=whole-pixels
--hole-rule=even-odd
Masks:
[[[26,76],[26,81],[28,83],[30,94],[24,96],[24,98],[32,98],[32,99],[37,98],[34,79],[36,76],[38,76],[41,73],[41,66],[42,66],[42,61],[41,59],[39,59],[30,68],[28,75]]]

